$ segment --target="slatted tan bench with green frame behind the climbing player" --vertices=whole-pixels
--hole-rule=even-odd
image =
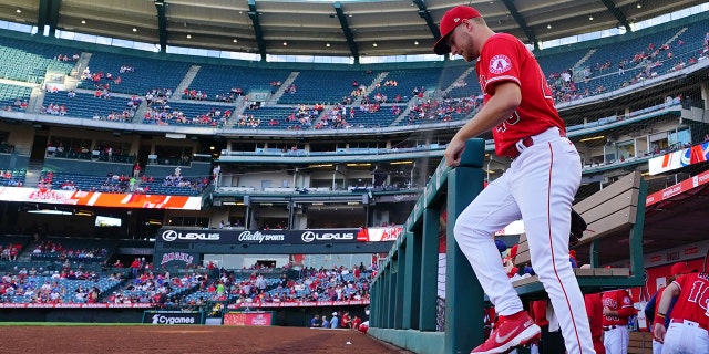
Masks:
[[[610,289],[641,287],[645,283],[643,260],[643,227],[645,223],[645,199],[647,184],[639,171],[630,173],[574,205],[588,226],[574,247],[578,264],[590,264],[587,269],[574,269],[583,293],[595,293]],[[599,267],[602,249],[625,250],[629,268]],[[604,263],[626,259],[606,257]],[[524,269],[531,264],[530,248],[522,235],[517,247],[515,267]],[[534,264],[531,264],[534,268]],[[537,275],[513,282],[513,287],[525,302],[546,298]]]

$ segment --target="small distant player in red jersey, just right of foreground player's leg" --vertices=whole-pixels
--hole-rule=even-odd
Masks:
[[[633,299],[625,289],[606,291],[603,303],[603,344],[607,354],[627,354],[630,334],[628,317],[635,314]]]

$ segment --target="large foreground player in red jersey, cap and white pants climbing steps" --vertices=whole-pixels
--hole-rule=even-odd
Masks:
[[[458,217],[455,240],[499,314],[492,335],[473,353],[505,353],[540,337],[540,326],[500,263],[492,235],[522,218],[532,267],[558,314],[572,354],[594,353],[584,296],[568,261],[574,195],[580,158],[566,138],[564,122],[534,55],[516,38],[492,31],[480,12],[460,6],[441,19],[433,51],[476,60],[484,105],[448,144],[448,166],[460,164],[465,140],[492,129],[495,153],[511,167]]]

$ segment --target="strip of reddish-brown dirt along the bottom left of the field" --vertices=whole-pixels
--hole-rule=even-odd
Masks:
[[[0,353],[410,353],[349,330],[204,325],[18,325],[2,326],[0,331]]]

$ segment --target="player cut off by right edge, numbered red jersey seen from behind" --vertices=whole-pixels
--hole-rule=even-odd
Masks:
[[[688,267],[689,268],[689,267]],[[672,309],[669,327],[665,316],[674,296],[678,296]],[[691,272],[679,275],[662,290],[657,305],[653,335],[662,342],[665,354],[709,353],[709,274]]]

